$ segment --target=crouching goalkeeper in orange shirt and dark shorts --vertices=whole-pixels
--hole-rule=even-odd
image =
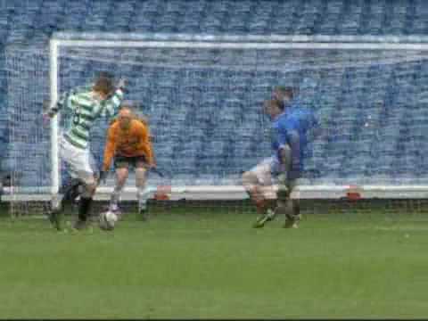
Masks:
[[[138,212],[145,219],[146,171],[155,167],[155,163],[147,120],[137,118],[132,112],[130,103],[122,103],[118,119],[111,123],[108,130],[100,181],[105,181],[113,157],[116,185],[111,193],[109,210],[119,212],[120,193],[127,182],[129,167],[132,166],[136,169]]]

